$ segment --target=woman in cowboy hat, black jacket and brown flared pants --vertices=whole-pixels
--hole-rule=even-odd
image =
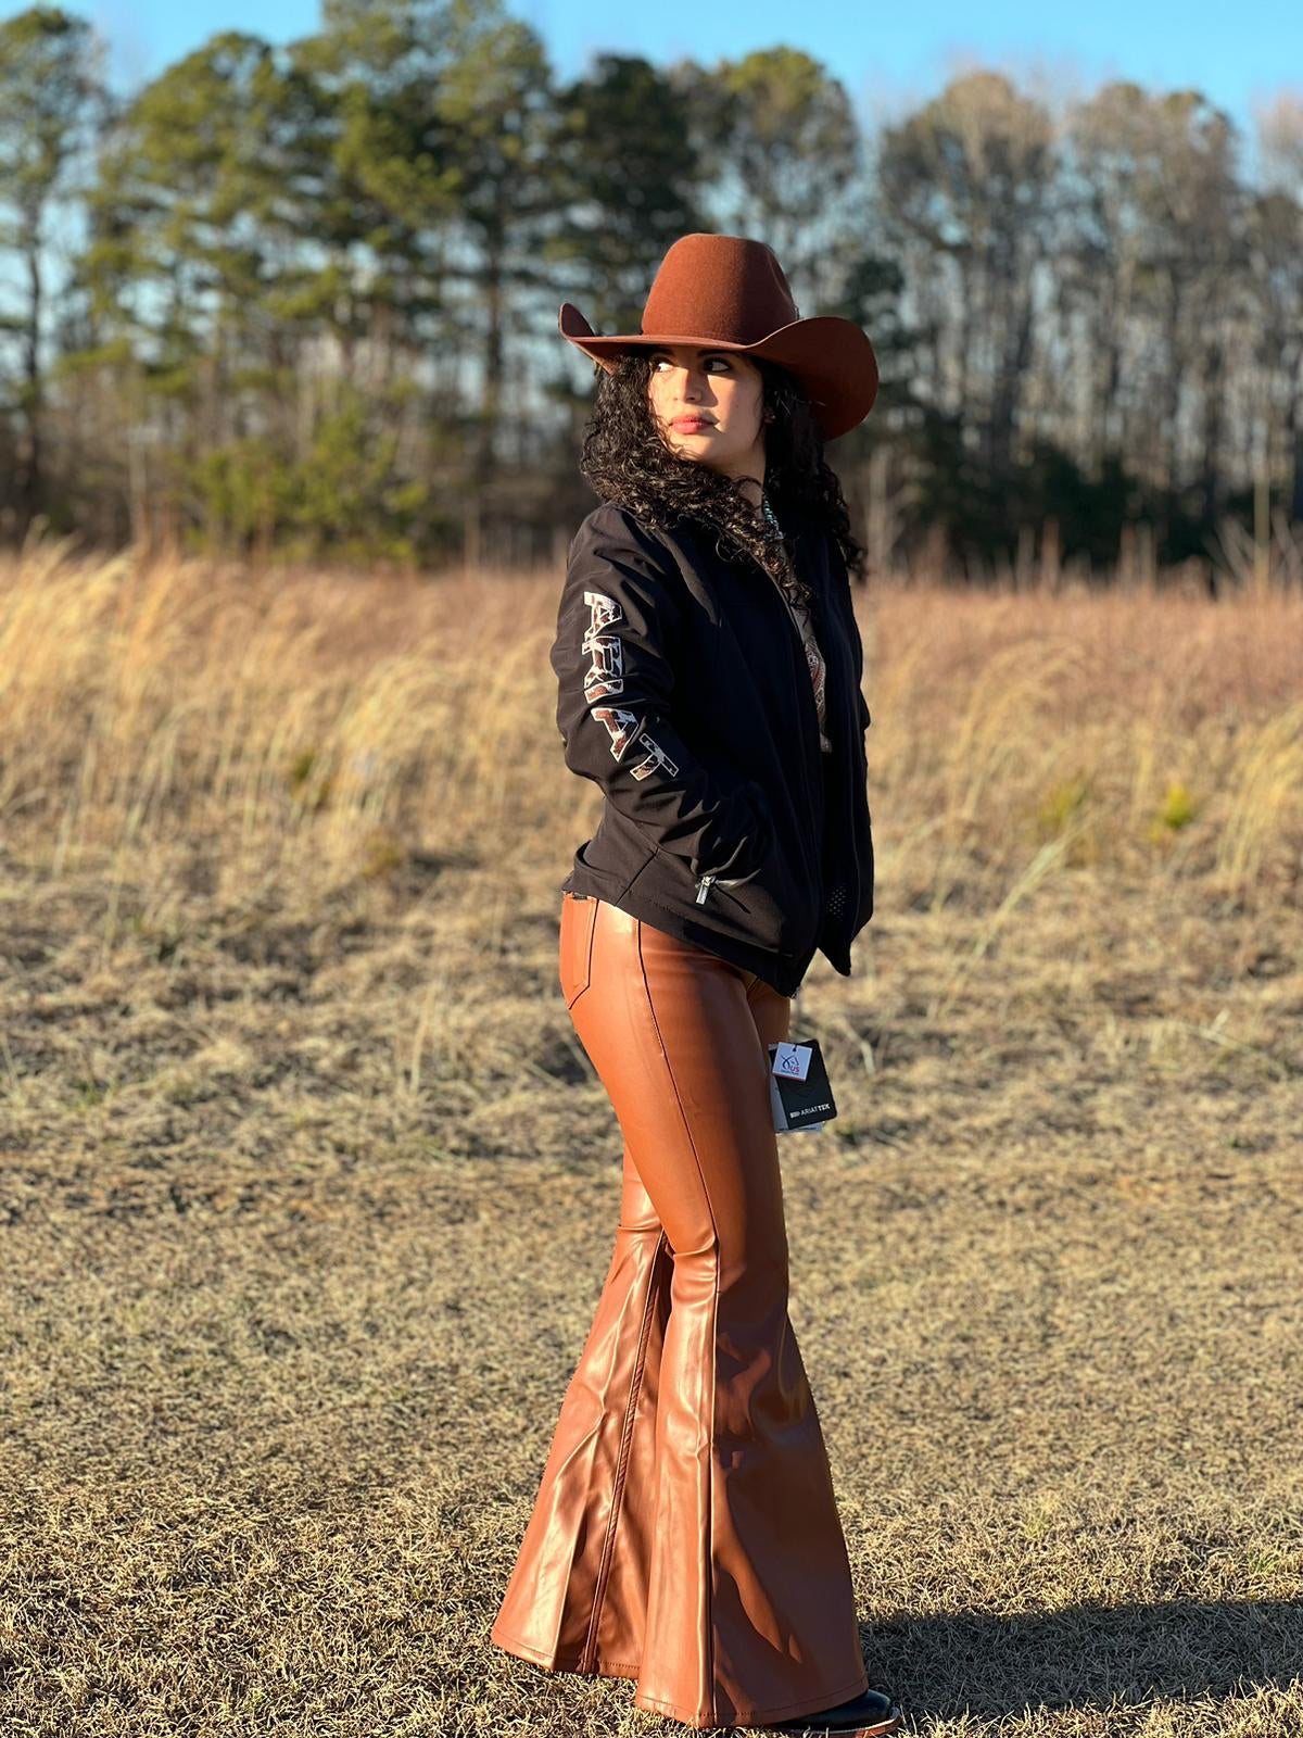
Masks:
[[[566,765],[605,796],[559,982],[624,1192],[492,1637],[695,1728],[888,1733],[787,1316],[766,1048],[872,912],[860,551],[822,441],[877,365],[744,236],[674,242],[639,334],[559,325],[606,370],[551,650]]]

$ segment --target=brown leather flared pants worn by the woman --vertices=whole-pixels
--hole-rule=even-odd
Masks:
[[[787,1317],[766,1045],[790,1003],[563,893],[561,991],[624,1135],[615,1253],[492,1639],[752,1726],[867,1686],[823,1437]]]

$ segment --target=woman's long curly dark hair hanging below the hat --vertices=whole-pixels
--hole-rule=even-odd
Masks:
[[[841,547],[846,572],[863,572],[836,471],[823,457],[810,400],[787,368],[747,358],[761,374],[764,424],[764,494],[777,516],[815,518]],[[697,459],[683,459],[660,436],[648,401],[652,349],[631,346],[601,375],[592,415],[584,429],[580,474],[601,501],[617,501],[648,523],[669,527],[676,516],[700,520],[716,532],[724,558],[747,554],[794,603],[810,603],[810,584],[792,565],[792,544],[770,528],[731,476]]]

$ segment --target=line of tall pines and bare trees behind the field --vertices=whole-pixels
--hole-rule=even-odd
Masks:
[[[499,0],[325,0],[129,97],[0,24],[0,535],[549,558],[591,504],[561,299],[638,330],[669,243],[763,236],[883,386],[829,448],[870,556],[1159,563],[1303,520],[1303,104],[995,70],[869,132],[773,47],[561,82]]]

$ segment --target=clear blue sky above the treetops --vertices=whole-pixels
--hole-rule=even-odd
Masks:
[[[316,0],[64,0],[111,43],[113,83],[130,89],[219,30],[288,42],[318,28]],[[893,118],[980,61],[1025,87],[1093,90],[1107,78],[1148,89],[1194,85],[1251,127],[1254,103],[1293,85],[1303,96],[1303,5],[1298,0],[987,0],[980,10],[874,5],[870,0],[749,0],[702,5],[594,7],[591,0],[507,0],[547,43],[561,78],[598,49],[665,63],[711,63],[777,42],[804,49],[848,89],[867,122]],[[0,0],[0,17],[23,10]],[[1293,19],[1293,23],[1291,23]]]

